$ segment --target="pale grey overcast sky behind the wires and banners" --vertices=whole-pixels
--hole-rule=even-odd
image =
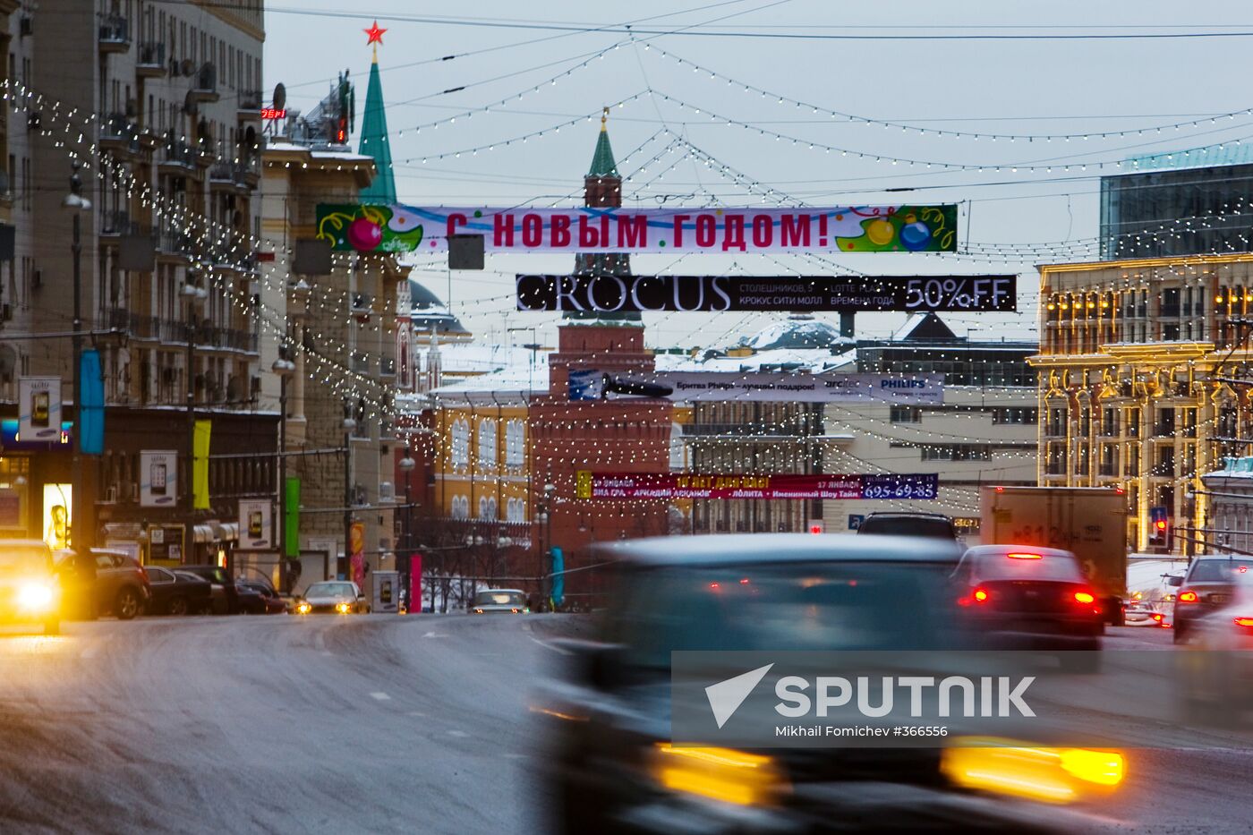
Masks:
[[[375,19],[401,203],[579,204],[609,105],[628,206],[961,212],[956,255],[647,255],[638,275],[1019,275],[1017,313],[945,315],[972,339],[1034,339],[1035,265],[1095,260],[1098,178],[1114,171],[1096,163],[1253,139],[1253,115],[1218,118],[1253,108],[1253,8],[1239,1],[276,0],[267,89],[282,81],[307,112],[347,70],[360,119]],[[571,257],[415,263],[480,339],[555,344],[559,313],[514,310],[512,276],[568,272]],[[902,321],[862,313],[857,328]],[[723,347],[771,322],[645,313],[657,347]]]

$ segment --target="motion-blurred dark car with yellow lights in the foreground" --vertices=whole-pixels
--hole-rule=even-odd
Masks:
[[[1085,831],[1076,820],[1091,820],[1059,805],[1121,781],[1114,752],[956,738],[937,741],[949,748],[672,745],[675,651],[964,646],[950,582],[959,554],[916,538],[806,534],[606,552],[619,577],[600,641],[563,642],[570,677],[533,707],[553,745],[540,762],[555,831]]]

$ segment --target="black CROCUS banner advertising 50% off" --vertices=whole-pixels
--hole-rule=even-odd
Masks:
[[[1017,276],[529,276],[523,311],[1017,310]]]

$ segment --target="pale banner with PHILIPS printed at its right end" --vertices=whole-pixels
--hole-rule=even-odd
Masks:
[[[664,397],[695,401],[944,402],[942,374],[771,374],[664,371],[630,376],[571,371],[570,400]]]

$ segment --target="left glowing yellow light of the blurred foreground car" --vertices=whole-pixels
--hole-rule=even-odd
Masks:
[[[772,757],[733,748],[684,748],[658,742],[653,772],[672,791],[737,806],[774,805],[788,789]]]

